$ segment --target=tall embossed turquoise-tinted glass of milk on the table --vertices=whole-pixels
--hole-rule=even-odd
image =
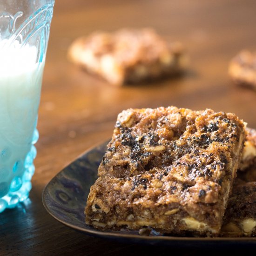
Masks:
[[[0,212],[27,199],[54,0],[0,0]]]

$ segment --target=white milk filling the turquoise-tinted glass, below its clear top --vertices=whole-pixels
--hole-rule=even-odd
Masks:
[[[27,198],[44,60],[35,46],[0,41],[0,211]]]

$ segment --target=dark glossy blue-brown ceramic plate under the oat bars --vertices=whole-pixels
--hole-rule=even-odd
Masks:
[[[198,238],[141,236],[137,231],[99,231],[85,224],[84,208],[91,185],[97,178],[97,169],[107,149],[107,142],[92,148],[61,170],[45,187],[42,201],[47,212],[57,221],[90,236],[112,238],[128,243],[150,243],[175,247],[208,247],[256,245],[255,238]]]

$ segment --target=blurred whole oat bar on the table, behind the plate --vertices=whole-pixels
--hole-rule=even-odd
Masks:
[[[111,84],[136,83],[179,73],[186,66],[180,43],[168,44],[149,28],[95,32],[74,41],[71,61]]]

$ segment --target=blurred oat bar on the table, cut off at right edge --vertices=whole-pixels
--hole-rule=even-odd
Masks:
[[[236,84],[256,89],[256,53],[237,54],[229,64],[229,75]]]

